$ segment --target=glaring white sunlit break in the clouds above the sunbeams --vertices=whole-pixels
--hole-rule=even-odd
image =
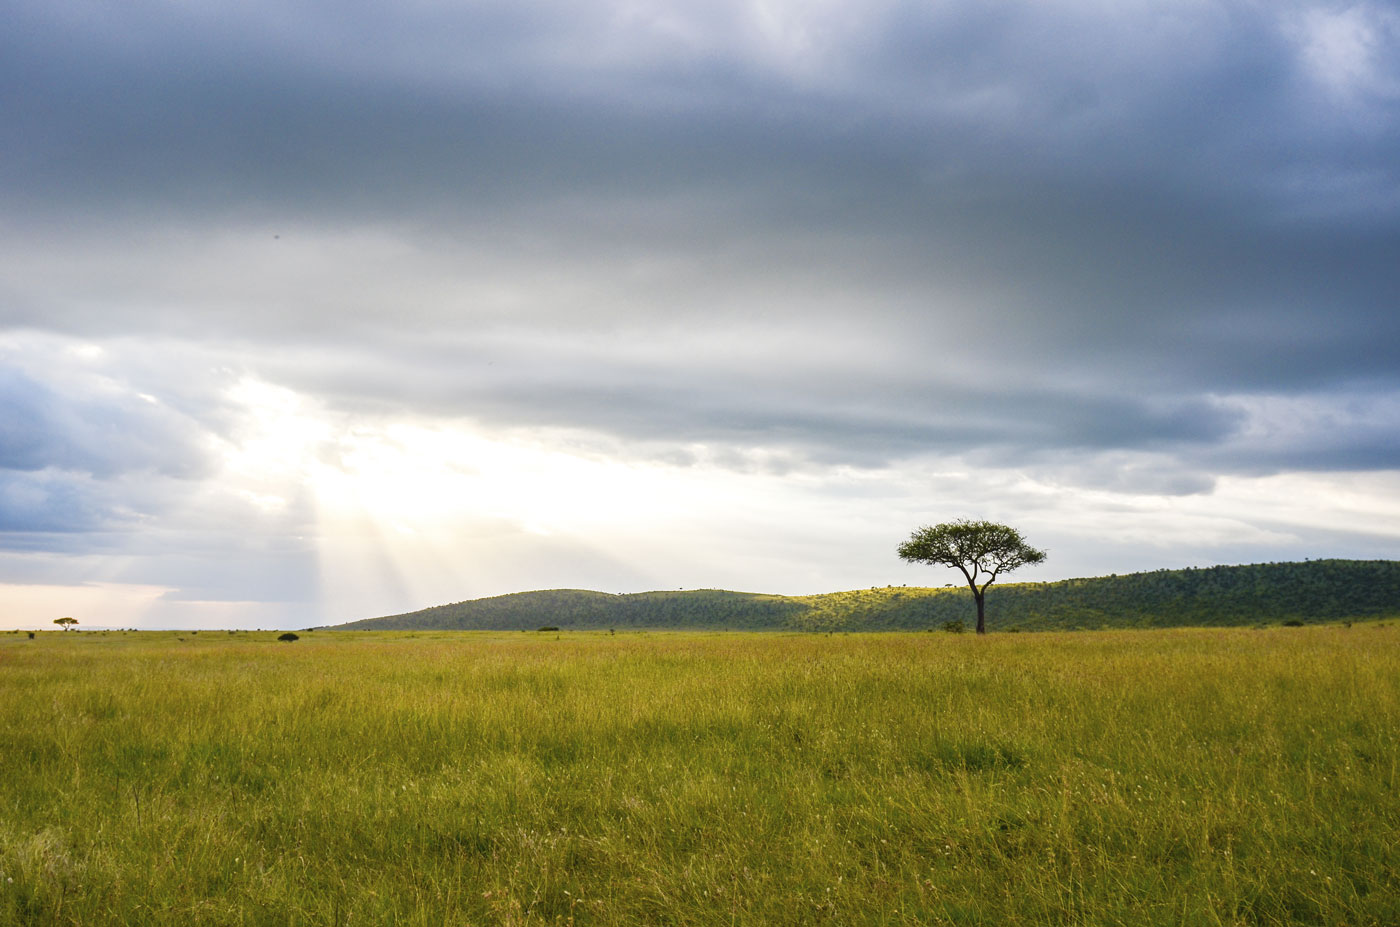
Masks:
[[[322,511],[360,513],[407,535],[434,535],[463,517],[549,534],[692,503],[655,468],[571,454],[540,438],[484,437],[465,423],[354,419],[255,379],[228,395],[245,424],[225,447],[225,479],[265,508],[286,504],[279,487],[307,487]],[[568,435],[557,440],[567,444]]]

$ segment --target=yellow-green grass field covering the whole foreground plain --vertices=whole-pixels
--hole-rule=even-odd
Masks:
[[[1400,627],[0,634],[0,924],[1397,924]]]

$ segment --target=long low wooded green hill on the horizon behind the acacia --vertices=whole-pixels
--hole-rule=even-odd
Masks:
[[[1400,616],[1400,562],[1309,560],[1155,570],[1060,583],[1007,583],[987,592],[988,630],[1075,630],[1334,622]],[[963,588],[875,587],[825,595],[724,590],[613,595],[587,590],[517,592],[342,630],[732,629],[923,630],[972,625]]]

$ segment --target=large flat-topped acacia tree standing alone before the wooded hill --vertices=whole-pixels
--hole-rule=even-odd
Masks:
[[[1022,539],[1021,532],[991,521],[949,521],[924,527],[899,545],[910,563],[958,567],[977,602],[977,633],[987,633],[987,587],[1002,573],[1046,559]]]

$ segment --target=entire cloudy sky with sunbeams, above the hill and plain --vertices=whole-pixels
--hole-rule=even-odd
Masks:
[[[1392,3],[0,18],[0,627],[1400,552]]]

